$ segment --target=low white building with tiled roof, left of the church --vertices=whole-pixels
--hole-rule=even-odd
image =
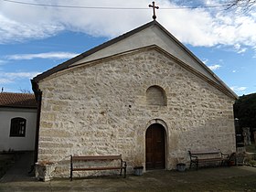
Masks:
[[[33,151],[36,123],[34,94],[0,93],[0,152]]]

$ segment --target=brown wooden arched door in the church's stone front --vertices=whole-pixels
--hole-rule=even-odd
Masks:
[[[165,168],[165,128],[159,123],[151,124],[145,133],[145,168]]]

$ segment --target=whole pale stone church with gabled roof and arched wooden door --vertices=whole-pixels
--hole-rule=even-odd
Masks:
[[[235,151],[237,95],[157,21],[31,80],[38,102],[37,162],[69,176],[69,155],[123,155],[174,169],[188,150]]]

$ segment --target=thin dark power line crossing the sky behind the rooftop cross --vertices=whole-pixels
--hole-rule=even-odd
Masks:
[[[2,0],[8,3],[21,4],[21,5],[35,5],[35,6],[48,6],[48,7],[58,7],[58,8],[80,8],[80,9],[112,9],[112,10],[147,10],[144,7],[117,7],[117,6],[81,6],[81,5],[49,5],[49,4],[35,4],[22,1],[13,0]],[[161,9],[198,9],[198,8],[219,8],[219,7],[229,7],[230,4],[225,5],[202,5],[202,6],[180,6],[180,7],[161,7]]]

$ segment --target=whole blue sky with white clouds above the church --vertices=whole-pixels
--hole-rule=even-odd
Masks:
[[[227,11],[219,6],[227,2],[155,1],[160,6],[156,20],[230,89],[238,95],[253,93],[256,8],[245,12],[237,8]],[[9,92],[31,91],[30,79],[37,74],[150,22],[151,3],[0,0],[0,87]],[[192,6],[201,8],[186,8]]]

